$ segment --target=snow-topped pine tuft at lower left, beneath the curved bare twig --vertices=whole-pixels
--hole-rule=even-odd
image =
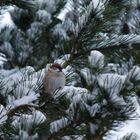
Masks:
[[[12,122],[12,125],[19,129],[19,133],[15,136],[16,139],[38,139],[37,133],[30,133],[30,130],[36,130],[36,125],[43,123],[46,120],[44,114],[40,111],[33,111],[31,115],[22,114],[16,117]]]

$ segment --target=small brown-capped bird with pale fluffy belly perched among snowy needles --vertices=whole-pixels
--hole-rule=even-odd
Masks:
[[[58,63],[52,64],[45,73],[43,85],[47,93],[54,93],[65,86],[65,74]]]

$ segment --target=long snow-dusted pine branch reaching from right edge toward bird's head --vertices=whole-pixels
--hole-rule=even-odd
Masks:
[[[113,49],[119,49],[122,48],[124,45],[134,45],[134,44],[139,44],[140,43],[140,36],[139,35],[114,35],[108,40],[103,40],[99,43],[94,43],[92,46],[89,46],[87,49],[80,50],[78,51],[78,47],[73,46],[70,57],[68,60],[65,61],[63,64],[63,67],[65,68],[69,64],[71,64],[73,61],[81,57],[82,55],[89,54],[92,50],[98,50],[98,51],[103,51],[103,50],[111,50]],[[82,46],[79,46],[82,47]],[[124,46],[125,47],[125,46]],[[76,52],[76,53],[75,53]]]

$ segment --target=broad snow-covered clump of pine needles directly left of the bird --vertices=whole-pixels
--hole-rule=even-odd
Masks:
[[[13,71],[13,70],[12,70]],[[39,87],[42,84],[44,71],[35,72],[32,67],[27,66],[23,69],[16,69],[9,76],[3,77],[4,96],[7,98],[7,107],[13,108],[22,104],[32,104],[39,97]],[[5,95],[6,92],[13,94]]]

